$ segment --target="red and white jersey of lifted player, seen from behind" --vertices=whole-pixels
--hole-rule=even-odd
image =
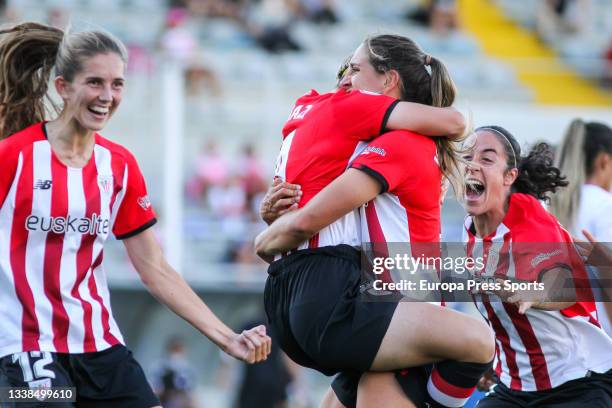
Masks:
[[[384,132],[398,100],[365,91],[339,90],[300,97],[283,127],[283,145],[275,176],[302,188],[303,207],[340,176],[359,146]],[[358,213],[325,227],[298,249],[348,244],[360,246]]]

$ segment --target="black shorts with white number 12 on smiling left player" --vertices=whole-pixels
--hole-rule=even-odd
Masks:
[[[30,351],[0,359],[0,387],[75,387],[76,403],[2,403],[15,408],[134,407],[160,405],[125,346],[82,354]]]

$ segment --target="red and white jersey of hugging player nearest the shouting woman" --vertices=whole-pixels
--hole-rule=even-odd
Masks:
[[[394,257],[410,252],[439,257],[442,173],[434,141],[408,132],[385,133],[351,162],[383,186],[359,209],[366,253]],[[398,281],[385,272],[384,281]]]

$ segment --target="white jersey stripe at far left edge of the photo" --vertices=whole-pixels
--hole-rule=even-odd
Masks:
[[[13,225],[13,209],[17,194],[17,182],[23,169],[23,154],[19,155],[15,180],[9,190],[4,204],[0,208],[0,230],[11,231]],[[4,271],[2,273],[1,271]],[[21,321],[23,308],[17,297],[13,268],[11,267],[11,234],[0,234],[0,316],[13,316],[12,319],[0,319],[0,350],[11,354],[21,350]]]

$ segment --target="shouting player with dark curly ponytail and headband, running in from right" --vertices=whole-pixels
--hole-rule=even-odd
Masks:
[[[471,143],[465,157],[468,254],[487,257],[482,278],[544,288],[476,295],[495,331],[499,380],[478,407],[612,406],[612,340],[595,319],[586,272],[569,233],[538,201],[567,182],[546,145],[522,157],[516,139],[499,126],[479,128]],[[555,291],[560,284],[563,289]],[[368,376],[377,378],[360,389],[364,394],[394,392],[392,375]],[[398,404],[406,400],[401,393],[394,396]]]

